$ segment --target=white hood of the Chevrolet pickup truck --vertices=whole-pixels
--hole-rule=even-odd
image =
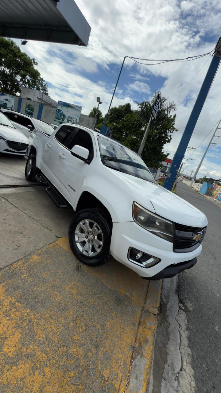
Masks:
[[[114,171],[114,170],[113,170]],[[206,216],[200,210],[161,185],[147,182],[126,173],[114,171],[123,182],[134,187],[134,201],[139,203],[139,193],[148,198],[155,213],[178,224],[202,228],[208,224]],[[130,187],[131,188],[131,187]],[[144,206],[145,208],[145,206]]]

